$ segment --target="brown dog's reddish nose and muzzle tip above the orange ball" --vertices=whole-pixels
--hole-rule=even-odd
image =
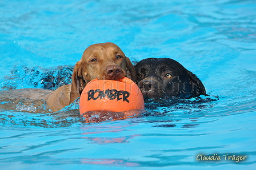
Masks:
[[[117,65],[110,65],[107,66],[105,70],[105,76],[108,80],[118,80],[122,79],[125,74],[123,73],[122,69]]]

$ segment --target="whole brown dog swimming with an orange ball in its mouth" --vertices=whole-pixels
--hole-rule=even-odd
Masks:
[[[21,91],[16,94],[16,96],[22,94],[18,96],[19,98],[45,99],[52,111],[59,111],[73,103],[91,80],[95,78],[118,80],[125,76],[134,82],[137,80],[135,68],[123,51],[114,43],[93,44],[86,48],[81,60],[75,64],[71,84],[61,86],[55,91],[44,90],[46,95],[40,94],[42,92],[40,89],[34,89],[34,92],[32,89],[29,93],[14,90],[10,94],[15,96],[15,91]],[[5,96],[9,95],[5,94]]]

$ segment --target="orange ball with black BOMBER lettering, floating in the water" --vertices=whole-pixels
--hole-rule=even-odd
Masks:
[[[87,111],[143,110],[144,99],[137,84],[129,78],[89,82],[82,91],[79,103],[80,114]]]

